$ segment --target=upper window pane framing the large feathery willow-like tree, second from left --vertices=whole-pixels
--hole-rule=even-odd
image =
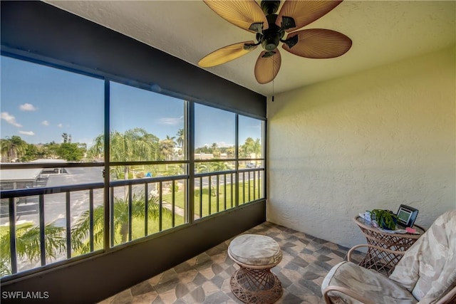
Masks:
[[[185,101],[110,83],[110,160],[185,159]]]

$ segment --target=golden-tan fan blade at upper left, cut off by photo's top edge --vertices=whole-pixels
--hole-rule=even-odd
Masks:
[[[261,33],[261,28],[268,28],[266,16],[254,0],[204,0],[204,3],[217,15],[246,31]]]

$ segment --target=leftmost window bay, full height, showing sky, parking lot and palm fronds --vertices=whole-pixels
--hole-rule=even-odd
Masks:
[[[11,267],[2,247],[1,276],[103,248],[103,167],[68,167],[98,160],[88,149],[103,135],[103,117],[104,80],[1,56],[1,161],[16,163],[1,168],[1,189],[21,189],[13,198],[17,263]],[[40,165],[16,169],[20,163]],[[88,185],[76,191],[75,184]],[[28,195],[36,187],[49,194]],[[2,227],[8,201],[1,201]]]

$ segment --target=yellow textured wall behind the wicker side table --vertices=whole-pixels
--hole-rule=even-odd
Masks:
[[[352,218],[456,209],[456,48],[309,85],[268,102],[267,219],[343,246]]]

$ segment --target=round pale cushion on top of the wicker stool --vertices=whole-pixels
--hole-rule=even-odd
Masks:
[[[229,255],[235,261],[252,266],[274,265],[281,261],[279,244],[269,236],[243,234],[229,243]]]

